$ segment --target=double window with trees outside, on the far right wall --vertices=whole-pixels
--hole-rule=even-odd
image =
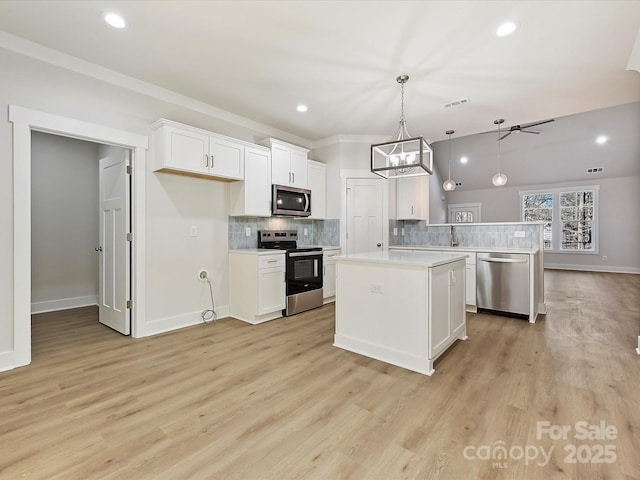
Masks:
[[[598,186],[520,192],[523,222],[544,222],[544,249],[597,253]]]

